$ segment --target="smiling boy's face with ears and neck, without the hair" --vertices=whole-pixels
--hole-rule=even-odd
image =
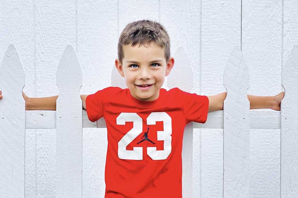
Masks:
[[[173,68],[174,59],[171,57],[166,62],[164,49],[153,42],[147,47],[125,45],[123,53],[122,64],[116,59],[115,65],[120,75],[125,77],[131,96],[142,101],[157,99],[164,77]]]

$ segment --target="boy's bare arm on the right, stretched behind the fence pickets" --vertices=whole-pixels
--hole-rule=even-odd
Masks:
[[[284,95],[285,92],[281,92],[276,96],[247,95],[247,98],[250,102],[250,109],[273,109],[280,111],[280,102]],[[207,97],[209,99],[208,112],[224,109],[224,99],[226,98],[226,92]]]

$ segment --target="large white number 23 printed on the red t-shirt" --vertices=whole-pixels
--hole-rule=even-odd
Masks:
[[[172,119],[165,112],[152,112],[147,118],[147,125],[154,125],[159,121],[163,121],[164,131],[157,131],[157,140],[164,140],[164,150],[156,151],[156,147],[148,147],[147,154],[153,160],[167,159],[172,151]],[[116,119],[117,125],[125,125],[125,122],[133,122],[133,128],[118,142],[118,157],[120,159],[142,160],[142,147],[134,147],[132,151],[126,150],[129,143],[143,133],[142,118],[136,113],[120,113]]]

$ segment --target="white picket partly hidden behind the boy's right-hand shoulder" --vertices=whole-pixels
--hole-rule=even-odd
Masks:
[[[168,75],[168,87],[178,87],[190,92],[193,88],[193,72],[183,47],[175,52],[176,63]],[[182,197],[193,197],[193,123],[185,126],[182,147]]]

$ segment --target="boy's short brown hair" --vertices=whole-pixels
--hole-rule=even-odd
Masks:
[[[164,49],[166,62],[170,59],[170,38],[167,31],[158,22],[139,20],[129,23],[122,31],[118,42],[118,58],[122,63],[124,58],[123,47],[131,43],[131,46],[150,46],[154,42]]]

